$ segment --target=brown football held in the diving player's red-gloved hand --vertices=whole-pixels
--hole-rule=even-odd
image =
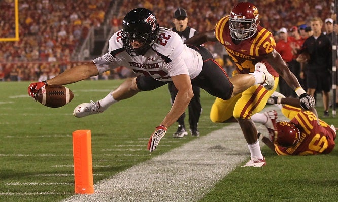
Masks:
[[[37,95],[36,100],[47,107],[57,108],[66,105],[74,98],[73,92],[61,85],[48,85],[41,88]]]

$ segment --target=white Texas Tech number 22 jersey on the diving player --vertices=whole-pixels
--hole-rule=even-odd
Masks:
[[[144,54],[130,56],[124,49],[121,31],[109,39],[108,53],[93,60],[99,74],[119,66],[125,66],[137,75],[171,81],[172,76],[187,74],[195,78],[202,70],[203,59],[197,51],[183,44],[181,37],[160,27],[157,40]]]

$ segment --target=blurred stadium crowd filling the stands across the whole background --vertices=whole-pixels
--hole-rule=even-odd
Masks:
[[[70,61],[71,54],[81,44],[92,26],[101,26],[113,1],[104,0],[22,0],[19,1],[19,36],[17,42],[0,42],[0,81],[36,81],[51,78],[79,62]],[[229,14],[236,0],[229,1],[122,1],[112,26],[120,26],[124,15],[135,7],[152,10],[160,26],[172,27],[172,13],[179,7],[188,12],[189,26],[199,32],[213,29],[215,23]],[[250,1],[259,8],[260,24],[276,37],[282,27],[309,25],[313,17],[331,16],[328,0]],[[0,38],[15,36],[14,1],[1,1]],[[324,31],[324,30],[323,30]],[[207,48],[215,51],[216,44]],[[221,52],[221,51],[220,51]],[[225,62],[228,64],[228,62]],[[112,73],[114,74],[114,73]],[[115,73],[118,75],[118,73]],[[111,78],[118,78],[114,76]]]

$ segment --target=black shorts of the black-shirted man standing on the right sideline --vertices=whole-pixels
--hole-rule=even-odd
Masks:
[[[308,88],[330,92],[331,74],[328,70],[307,70],[306,75]]]

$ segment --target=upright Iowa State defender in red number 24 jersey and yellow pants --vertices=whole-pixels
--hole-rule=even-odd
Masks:
[[[275,86],[267,90],[255,85],[229,100],[216,98],[210,112],[213,122],[238,121],[247,141],[251,159],[244,166],[261,167],[265,159],[257,140],[257,129],[251,116],[261,111],[278,86],[281,75],[286,83],[300,97],[303,108],[315,105],[315,99],[303,90],[297,78],[290,72],[280,54],[275,50],[275,40],[271,32],[259,26],[258,9],[248,2],[235,5],[229,16],[218,21],[214,30],[195,35],[186,44],[200,45],[207,41],[218,41],[236,65],[235,74],[248,74],[255,71],[258,62],[265,63],[267,70],[275,77]]]

